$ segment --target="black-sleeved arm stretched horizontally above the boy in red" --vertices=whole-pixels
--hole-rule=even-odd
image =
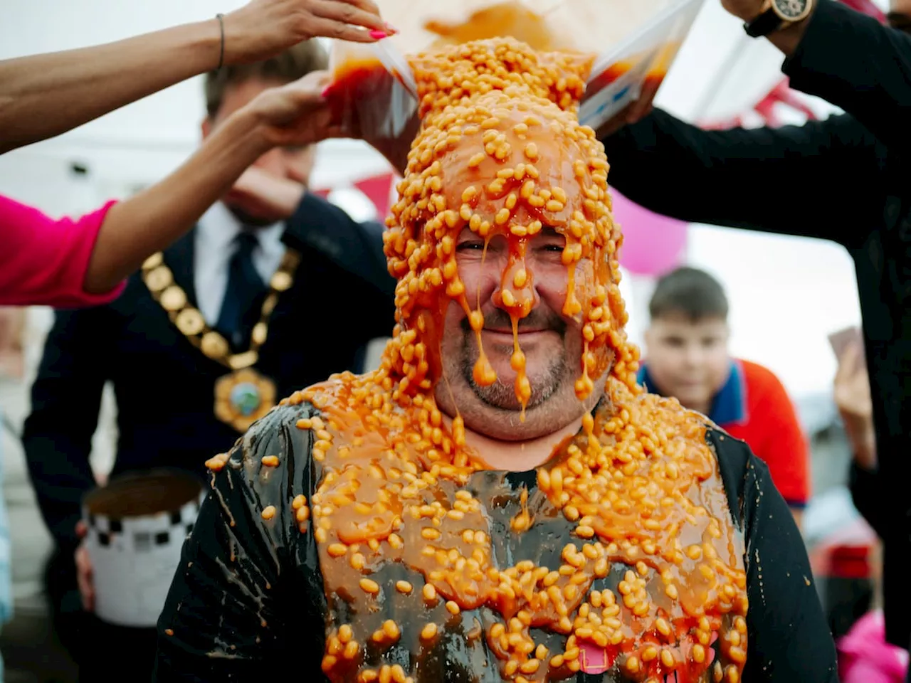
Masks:
[[[846,116],[702,130],[656,109],[603,142],[614,188],[696,223],[850,244],[882,194],[875,138]]]

